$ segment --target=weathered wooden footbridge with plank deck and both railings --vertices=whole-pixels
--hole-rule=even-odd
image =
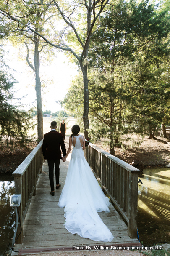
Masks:
[[[60,163],[61,188],[52,197],[41,141],[13,173],[15,194],[21,194],[18,210],[22,229],[18,225],[17,233],[20,235],[15,245],[15,251],[19,251],[20,255],[76,250],[73,246],[141,245],[137,239],[139,170],[91,143],[85,150],[85,157],[103,191],[115,205],[116,209],[110,206],[110,213],[99,213],[114,239],[108,243],[94,242],[65,229],[64,209],[57,204],[65,183],[69,157],[65,163]]]

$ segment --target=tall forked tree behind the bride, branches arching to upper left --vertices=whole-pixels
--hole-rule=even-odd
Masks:
[[[15,21],[16,29],[23,30],[24,26],[24,30],[26,31],[27,28],[28,33],[31,31],[55,48],[61,49],[63,51],[69,51],[78,60],[84,81],[84,134],[85,137],[88,138],[87,129],[89,128],[89,80],[87,69],[89,45],[92,34],[94,34],[99,27],[98,18],[105,9],[106,5],[109,3],[109,0],[84,0],[83,3],[80,3],[79,1],[73,1],[70,3],[68,1],[65,2],[64,7],[63,3],[59,3],[59,1],[56,2],[55,0],[52,0],[50,3],[43,0],[41,3],[38,1],[35,2],[30,0],[26,2],[24,0],[20,0],[19,3],[21,5],[27,6],[31,5],[33,9],[36,5],[56,8],[61,18],[65,22],[65,27],[62,30],[60,40],[56,43],[55,38],[54,40],[50,40],[44,34],[44,31],[37,31],[37,29],[30,26],[29,22],[26,22],[29,16],[28,11],[26,11],[25,16],[21,17],[18,15],[18,4],[12,6],[12,11],[10,11],[10,2],[8,1],[6,3],[6,1],[1,0],[0,13],[12,21]],[[83,24],[82,21],[84,21]]]

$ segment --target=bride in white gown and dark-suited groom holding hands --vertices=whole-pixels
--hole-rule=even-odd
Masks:
[[[112,241],[114,238],[112,233],[97,213],[97,211],[109,212],[109,198],[105,197],[84,157],[85,138],[79,134],[80,127],[73,125],[71,128],[72,134],[69,137],[67,153],[63,136],[56,131],[57,123],[53,121],[50,127],[51,131],[44,135],[42,152],[44,159],[48,161],[52,196],[55,193],[54,166],[56,189],[59,189],[61,187],[59,183],[60,159],[63,162],[66,161],[73,145],[65,184],[58,202],[58,206],[65,207],[65,228],[72,234],[78,234],[94,241]]]

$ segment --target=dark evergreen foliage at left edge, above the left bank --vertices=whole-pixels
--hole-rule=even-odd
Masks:
[[[29,141],[27,132],[34,128],[31,110],[20,110],[9,102],[14,98],[13,87],[16,80],[10,75],[9,67],[3,61],[4,51],[0,49],[0,134],[5,139],[16,139],[24,144]]]

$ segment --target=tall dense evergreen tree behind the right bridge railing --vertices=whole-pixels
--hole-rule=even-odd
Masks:
[[[144,1],[137,4],[118,0],[101,18],[102,26],[92,38],[91,66],[98,70],[97,79],[100,77],[97,100],[101,102],[105,95],[110,106],[110,113],[104,112],[103,116],[97,105],[97,118],[109,126],[112,154],[121,133],[127,131],[124,123],[130,131],[143,133],[149,126],[151,132],[162,118],[157,104],[161,97],[166,102],[168,92],[165,95],[162,87],[169,85],[161,80],[157,85],[157,77],[163,71],[155,71],[155,67],[159,56],[169,54],[168,42],[161,41],[170,31],[169,17],[165,16],[166,11],[157,13],[153,5]],[[134,120],[141,124],[140,129],[136,129]]]

